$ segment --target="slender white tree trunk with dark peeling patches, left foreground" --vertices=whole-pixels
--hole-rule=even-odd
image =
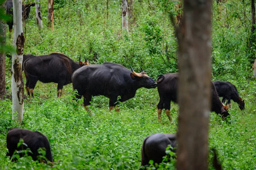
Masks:
[[[24,35],[22,28],[22,0],[13,0],[13,48],[12,53],[12,119],[23,119],[24,84],[22,79],[22,60],[24,48]]]

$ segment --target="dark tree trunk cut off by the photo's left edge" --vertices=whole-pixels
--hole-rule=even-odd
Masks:
[[[6,0],[1,4],[0,8],[6,11]],[[0,45],[6,45],[6,21],[4,20],[0,20]],[[3,99],[5,94],[5,52],[0,51],[0,99]]]

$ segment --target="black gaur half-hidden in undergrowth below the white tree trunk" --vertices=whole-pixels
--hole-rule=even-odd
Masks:
[[[17,144],[20,142],[20,139],[23,139],[27,147],[23,144],[17,147]],[[29,148],[33,154],[29,153],[28,155],[32,156],[32,159],[36,161],[38,160],[37,156],[39,155],[38,149],[42,148],[45,149],[46,151],[45,157],[49,161],[53,162],[49,141],[46,136],[44,136],[42,133],[38,131],[34,132],[31,130],[20,128],[10,129],[7,133],[6,142],[7,149],[9,150],[6,156],[10,156],[12,158],[12,155],[15,152],[15,150],[26,150],[26,148]],[[23,156],[23,154],[20,153],[20,156]]]

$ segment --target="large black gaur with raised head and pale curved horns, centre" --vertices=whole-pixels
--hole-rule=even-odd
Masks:
[[[124,102],[135,96],[139,88],[156,88],[154,82],[142,69],[136,73],[122,65],[104,62],[99,65],[88,65],[76,70],[72,75],[73,89],[78,91],[76,98],[84,96],[84,108],[90,105],[92,96],[103,95],[109,98],[109,111],[117,105],[117,98]],[[119,109],[116,109],[117,111]]]

